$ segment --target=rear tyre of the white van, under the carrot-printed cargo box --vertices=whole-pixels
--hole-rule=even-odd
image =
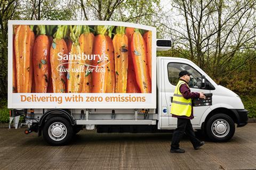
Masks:
[[[63,117],[52,117],[43,126],[44,140],[51,145],[65,145],[72,135],[73,128]]]

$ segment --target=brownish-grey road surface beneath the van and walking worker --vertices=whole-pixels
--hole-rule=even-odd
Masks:
[[[231,141],[205,140],[170,153],[170,133],[98,134],[81,131],[67,146],[52,147],[25,128],[0,128],[0,169],[256,169],[256,123],[236,128]]]

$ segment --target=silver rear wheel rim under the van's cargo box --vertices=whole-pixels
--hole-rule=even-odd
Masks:
[[[48,134],[54,141],[61,141],[67,135],[67,127],[61,122],[54,122],[48,128]]]

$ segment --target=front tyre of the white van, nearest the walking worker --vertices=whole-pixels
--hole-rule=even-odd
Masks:
[[[235,133],[235,123],[225,114],[213,115],[206,123],[205,131],[214,142],[227,142]]]

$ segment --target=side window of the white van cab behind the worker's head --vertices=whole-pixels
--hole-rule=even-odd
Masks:
[[[172,85],[177,85],[179,82],[179,72],[182,70],[187,70],[190,72],[190,81],[188,83],[191,88],[200,88],[201,87],[201,77],[202,75],[195,70],[193,67],[184,63],[169,63],[168,64],[168,78],[169,82]]]

